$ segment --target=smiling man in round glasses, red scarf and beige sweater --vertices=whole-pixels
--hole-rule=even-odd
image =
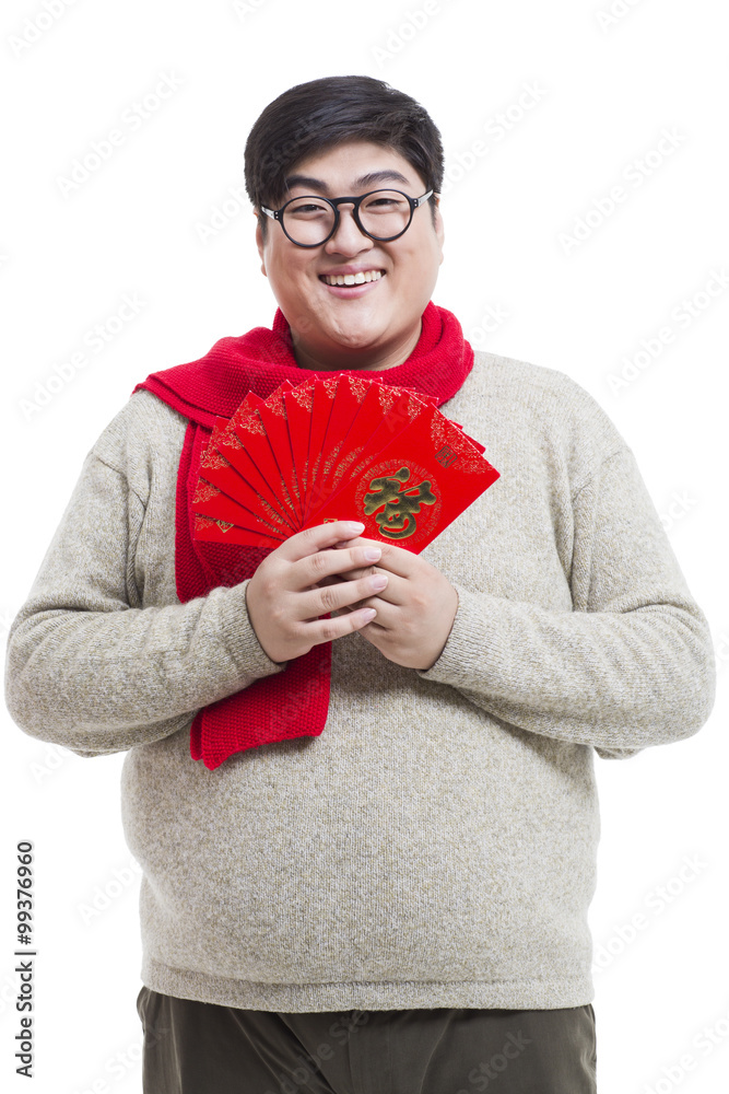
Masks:
[[[593,752],[695,733],[712,643],[596,401],[473,354],[432,302],[442,179],[380,81],[267,107],[246,182],[273,328],[140,385],[13,624],[19,724],[128,749],[145,1091],[596,1090]],[[356,513],[205,552],[215,416],[342,371],[433,397],[498,481],[421,554]]]

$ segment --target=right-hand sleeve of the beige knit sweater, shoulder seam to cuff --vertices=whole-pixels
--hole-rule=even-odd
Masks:
[[[573,610],[458,584],[448,641],[419,675],[603,758],[691,736],[714,705],[710,633],[628,447],[601,463],[573,511]]]

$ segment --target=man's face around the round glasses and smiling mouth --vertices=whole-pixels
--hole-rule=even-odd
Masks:
[[[367,178],[374,172],[387,175]],[[396,177],[389,173],[395,172]],[[306,182],[292,176],[306,176]],[[286,200],[305,194],[358,197],[375,189],[399,189],[420,197],[427,187],[403,156],[367,141],[339,144],[301,160],[290,172]],[[283,203],[283,202],[282,202]],[[410,228],[391,243],[364,235],[352,206],[341,205],[337,232],[319,247],[297,247],[270,220],[263,244],[256,231],[261,269],[292,330],[299,364],[320,369],[383,369],[399,364],[414,347],[420,317],[431,300],[443,261],[443,222],[430,203],[415,209]],[[380,270],[378,281],[332,288],[321,275]]]

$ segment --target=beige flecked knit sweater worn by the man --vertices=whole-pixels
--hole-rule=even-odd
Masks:
[[[593,757],[701,729],[709,630],[584,388],[477,352],[442,410],[501,478],[422,552],[459,596],[440,656],[404,668],[337,639],[324,732],[214,771],[190,757],[195,713],[282,666],[247,581],[176,595],[186,420],[139,392],[89,453],[5,697],[32,736],[127,752],[148,987],[283,1012],[592,1000]]]

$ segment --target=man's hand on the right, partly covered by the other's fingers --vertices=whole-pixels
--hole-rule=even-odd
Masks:
[[[360,628],[379,652],[404,668],[425,672],[440,656],[458,610],[458,593],[448,579],[412,551],[379,539],[357,537],[349,547],[376,546],[381,556],[374,566],[348,570],[329,581],[356,580],[373,573],[385,574],[386,587],[342,612],[373,607],[377,615]]]

